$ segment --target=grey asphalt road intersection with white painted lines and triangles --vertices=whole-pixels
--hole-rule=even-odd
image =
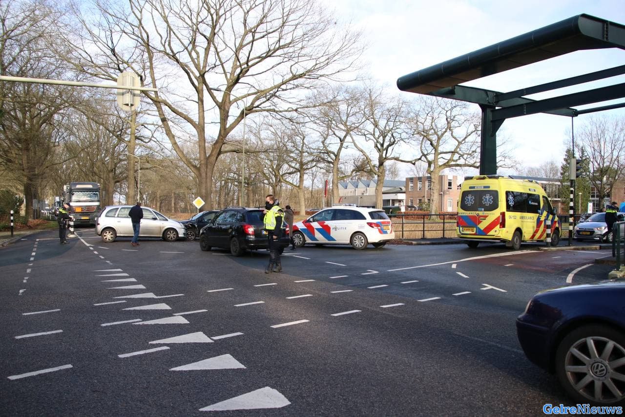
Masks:
[[[1,414],[539,415],[569,401],[514,320],[611,269],[607,250],[335,246],[267,275],[266,252],[79,235],[0,250]]]

